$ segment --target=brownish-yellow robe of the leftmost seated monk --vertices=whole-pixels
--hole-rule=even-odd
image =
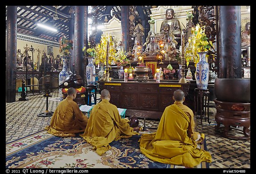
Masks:
[[[57,106],[50,125],[45,129],[52,135],[73,137],[85,130],[87,122],[88,118],[80,111],[78,104],[67,96]]]

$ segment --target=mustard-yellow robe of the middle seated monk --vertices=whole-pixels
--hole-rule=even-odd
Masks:
[[[121,118],[117,107],[103,99],[92,108],[88,125],[80,136],[93,146],[97,154],[102,155],[111,148],[109,143],[113,140],[137,134],[128,120]]]

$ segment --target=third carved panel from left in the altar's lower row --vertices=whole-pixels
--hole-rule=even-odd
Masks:
[[[158,109],[157,94],[140,94],[140,108],[142,109]]]

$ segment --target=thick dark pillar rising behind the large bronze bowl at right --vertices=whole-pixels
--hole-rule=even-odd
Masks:
[[[218,17],[219,78],[242,78],[240,6],[219,6]]]

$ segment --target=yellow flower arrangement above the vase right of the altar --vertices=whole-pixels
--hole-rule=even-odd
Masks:
[[[200,27],[198,23],[196,24],[196,27],[192,27],[192,36],[188,38],[188,46],[185,51],[187,66],[191,59],[193,59],[195,66],[199,62],[199,55],[197,52],[208,51],[213,48],[212,41],[208,42],[207,40],[208,38],[204,33],[204,27],[205,26]]]

